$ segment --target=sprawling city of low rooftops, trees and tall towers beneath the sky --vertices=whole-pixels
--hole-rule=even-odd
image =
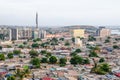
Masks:
[[[43,27],[40,14],[0,23],[0,80],[120,80],[119,25]]]

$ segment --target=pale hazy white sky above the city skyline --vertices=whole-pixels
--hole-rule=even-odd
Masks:
[[[120,0],[0,0],[0,25],[120,25]]]

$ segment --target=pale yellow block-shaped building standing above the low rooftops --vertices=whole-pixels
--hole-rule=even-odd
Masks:
[[[73,37],[77,38],[85,38],[85,30],[84,29],[74,29],[72,33]]]

